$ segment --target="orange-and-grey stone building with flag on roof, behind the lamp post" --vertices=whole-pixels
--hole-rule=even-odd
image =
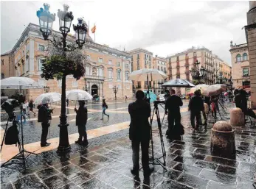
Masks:
[[[52,35],[61,37],[60,32],[56,31],[52,31]],[[68,35],[67,41],[75,43],[75,37]],[[48,43],[41,35],[39,26],[30,23],[13,49],[1,54],[1,79],[9,76],[26,76],[40,85],[48,86],[49,92],[61,93],[61,80],[46,81],[41,78],[41,61],[46,56]],[[71,75],[67,76],[66,90],[86,89],[91,95],[99,95],[100,99],[114,99],[113,87],[117,86],[117,99],[132,96],[132,82],[128,80],[131,74],[130,54],[94,43],[89,36],[86,36],[83,51],[86,54],[86,74],[79,80]],[[10,95],[12,91],[4,90],[4,93]],[[45,91],[30,89],[24,90],[23,93],[26,99],[35,100]]]

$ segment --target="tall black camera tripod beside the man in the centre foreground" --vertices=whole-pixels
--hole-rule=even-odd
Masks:
[[[164,168],[164,171],[167,171],[167,168],[165,168],[165,157],[166,157],[166,152],[165,152],[165,144],[164,144],[164,140],[163,140],[163,135],[162,135],[162,124],[161,124],[161,120],[160,120],[160,115],[159,115],[159,108],[158,108],[158,104],[159,102],[161,103],[161,101],[154,101],[153,105],[153,114],[151,117],[151,149],[152,149],[152,157],[150,158],[150,160],[152,161],[153,165],[161,165],[162,168]],[[153,115],[156,114],[156,120],[157,120],[157,125],[158,125],[158,129],[159,129],[159,137],[160,137],[160,142],[161,142],[161,148],[162,148],[162,156],[155,158],[154,154],[153,154],[153,130],[152,130],[152,122],[153,122]],[[160,159],[163,158],[164,162],[162,163],[160,161]]]

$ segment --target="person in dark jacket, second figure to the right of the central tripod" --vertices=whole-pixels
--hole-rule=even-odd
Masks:
[[[195,96],[192,96],[190,103],[188,104],[188,110],[190,111],[190,121],[193,129],[198,129],[201,125],[201,111],[204,112],[204,101],[201,98],[201,90],[195,91]],[[196,117],[196,126],[195,126]]]

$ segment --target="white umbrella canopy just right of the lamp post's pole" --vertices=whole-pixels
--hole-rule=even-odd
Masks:
[[[92,96],[85,90],[74,89],[66,91],[66,99],[73,101],[91,100]]]

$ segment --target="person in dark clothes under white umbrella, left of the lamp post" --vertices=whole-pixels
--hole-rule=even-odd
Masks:
[[[38,105],[38,122],[42,123],[42,135],[41,135],[41,147],[49,146],[51,143],[47,143],[48,128],[50,126],[49,121],[52,119],[52,110],[49,109],[48,104]]]

